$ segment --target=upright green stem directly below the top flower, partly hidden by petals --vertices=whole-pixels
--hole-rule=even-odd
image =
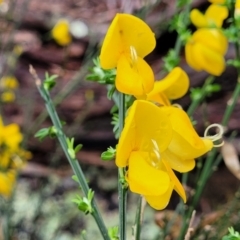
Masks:
[[[119,93],[119,132],[123,130],[125,121],[125,95]],[[118,168],[118,197],[119,197],[119,234],[120,240],[126,240],[126,207],[127,207],[127,187],[123,184],[125,179],[125,169]]]

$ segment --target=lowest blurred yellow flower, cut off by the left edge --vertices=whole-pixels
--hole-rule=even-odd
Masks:
[[[8,198],[12,194],[16,181],[16,171],[0,172],[0,195]]]

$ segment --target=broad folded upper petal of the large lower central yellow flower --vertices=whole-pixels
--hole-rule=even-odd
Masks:
[[[131,151],[152,152],[153,141],[163,152],[172,139],[171,123],[162,108],[136,100],[128,111],[116,152],[116,165],[125,167]]]

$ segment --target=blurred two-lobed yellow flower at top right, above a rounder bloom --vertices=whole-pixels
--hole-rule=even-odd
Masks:
[[[202,14],[198,9],[193,9],[190,13],[190,19],[197,28],[220,28],[227,16],[227,7],[217,4],[211,4],[205,14]]]

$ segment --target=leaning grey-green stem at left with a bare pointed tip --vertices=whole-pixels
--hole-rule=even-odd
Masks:
[[[59,142],[62,146],[62,149],[63,149],[71,167],[72,167],[72,170],[73,170],[74,174],[78,178],[78,182],[79,182],[79,185],[80,185],[83,193],[85,194],[85,196],[87,196],[88,192],[90,190],[89,186],[87,184],[87,181],[86,181],[86,178],[85,178],[84,173],[82,171],[82,168],[79,165],[79,162],[77,161],[77,159],[73,159],[68,152],[68,146],[67,146],[67,140],[66,140],[67,137],[65,136],[65,134],[62,130],[61,121],[58,117],[58,114],[56,112],[54,104],[53,104],[53,102],[50,98],[49,92],[43,87],[43,84],[41,83],[41,80],[37,77],[36,72],[33,69],[30,69],[30,72],[32,73],[33,77],[36,80],[37,88],[38,88],[39,93],[41,94],[42,98],[45,101],[45,105],[46,105],[48,114],[49,114],[49,116],[50,116],[50,118],[53,122],[53,125],[57,129],[57,138],[58,138],[58,140],[59,140]],[[92,216],[93,216],[93,218],[95,219],[95,221],[98,225],[98,228],[99,228],[99,230],[100,230],[100,232],[103,236],[103,239],[104,240],[110,240],[107,228],[106,228],[106,226],[103,222],[102,216],[100,214],[100,211],[99,211],[94,199],[92,200],[92,209],[93,209]]]

